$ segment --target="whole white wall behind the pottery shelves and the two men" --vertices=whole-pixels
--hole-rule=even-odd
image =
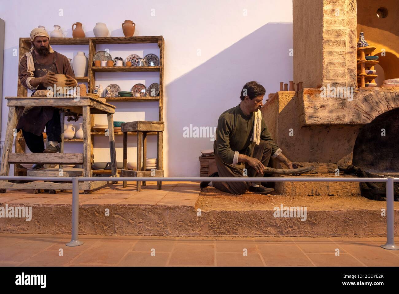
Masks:
[[[63,16],[59,16],[60,9]],[[239,103],[245,82],[257,80],[268,94],[279,90],[280,81],[292,79],[292,56],[288,55],[292,48],[292,0],[14,0],[2,3],[0,18],[6,22],[1,140],[8,114],[4,97],[16,96],[17,92],[18,54],[13,56],[13,50],[18,50],[19,38],[28,37],[33,28],[43,25],[51,30],[59,24],[71,37],[72,24],[82,22],[86,36],[93,37],[96,22],[105,22],[112,36],[123,36],[121,24],[129,19],[136,23],[134,36],[163,35],[164,166],[168,176],[198,176],[199,150],[213,148],[210,138],[184,138],[185,126],[216,126],[219,115]],[[72,58],[80,47],[57,46],[55,50]],[[121,57],[134,50],[147,52],[137,46],[111,48],[111,55],[113,50],[115,56]],[[137,80],[146,86],[154,82],[157,76],[153,74],[97,73],[96,84],[101,80],[104,87],[115,82],[123,85],[122,90],[130,90],[126,87]],[[157,102],[115,105],[117,112],[135,113],[133,118],[142,112],[146,120],[158,117]],[[78,123],[74,122],[77,126]],[[118,160],[122,154],[121,140],[117,138]],[[107,147],[103,141],[95,139],[96,161],[107,161],[105,149],[100,149]],[[129,157],[133,158],[136,143],[133,137],[131,141]],[[68,143],[66,152],[81,152],[79,144]],[[156,157],[155,144],[156,138],[149,139],[148,157]]]

